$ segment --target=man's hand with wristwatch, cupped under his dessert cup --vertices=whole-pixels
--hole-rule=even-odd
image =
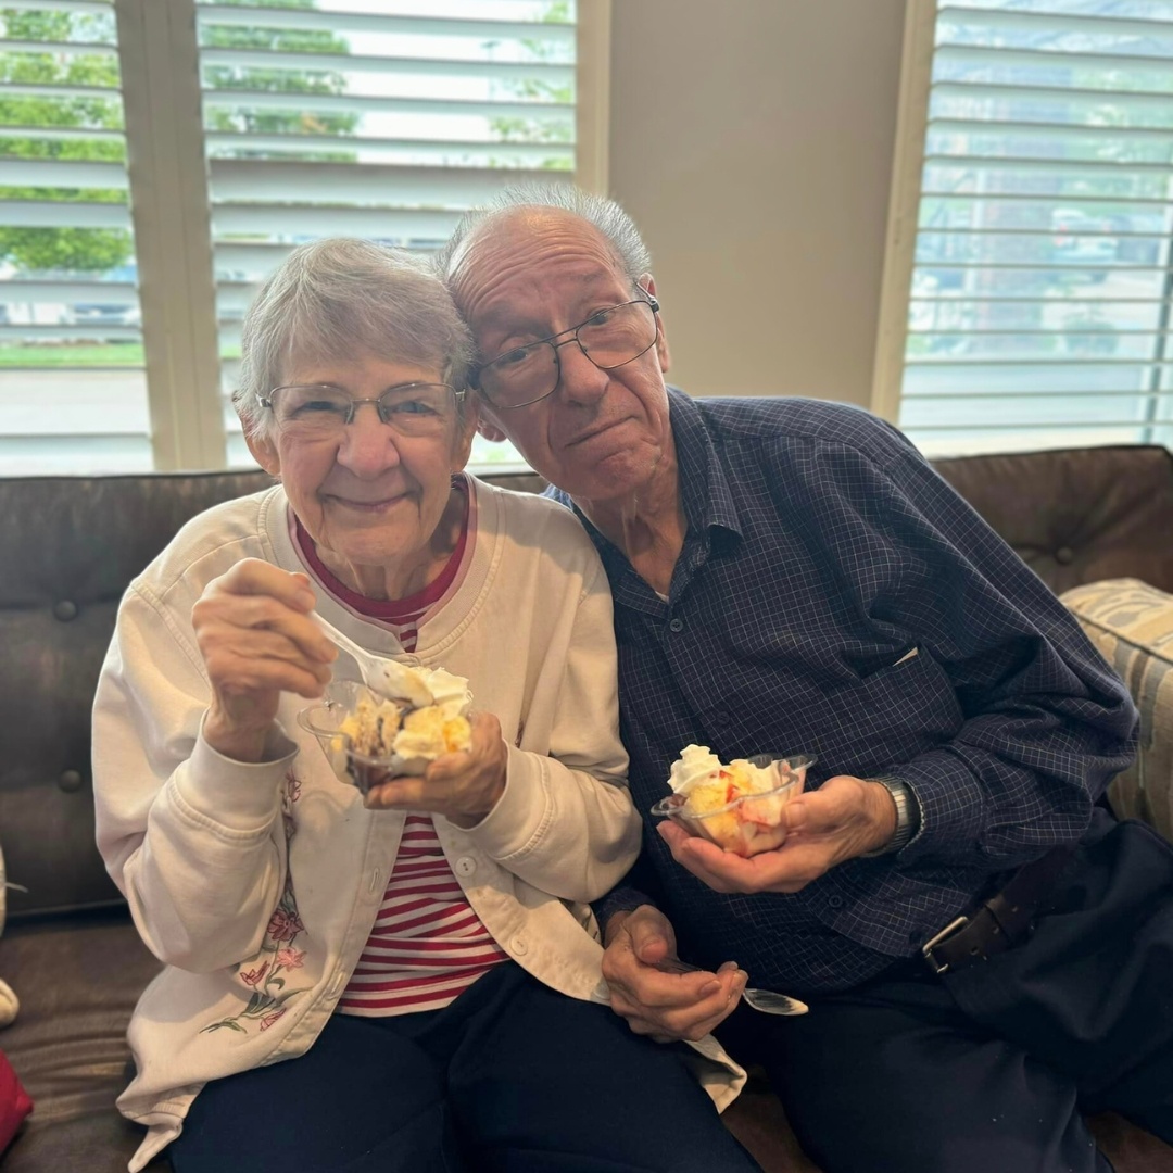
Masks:
[[[786,841],[743,859],[664,820],[657,830],[677,863],[716,891],[798,891],[845,860],[883,847],[896,832],[887,787],[840,774],[784,808]]]

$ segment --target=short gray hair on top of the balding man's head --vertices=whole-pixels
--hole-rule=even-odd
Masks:
[[[436,272],[450,280],[469,238],[488,221],[518,208],[554,208],[585,221],[611,246],[632,287],[652,266],[652,256],[635,221],[613,199],[570,183],[533,183],[507,188],[488,203],[465,212],[448,243],[433,257]]]

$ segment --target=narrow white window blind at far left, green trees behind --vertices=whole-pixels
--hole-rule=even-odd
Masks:
[[[151,467],[114,8],[0,6],[0,474]]]

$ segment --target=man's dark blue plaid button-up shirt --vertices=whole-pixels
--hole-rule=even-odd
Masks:
[[[689,529],[667,602],[586,523],[615,595],[645,815],[643,856],[599,911],[647,893],[682,956],[732,958],[754,985],[843,989],[913,955],[995,874],[1077,840],[1131,760],[1135,711],[1064,606],[896,429],[815,400],[670,396]],[[726,761],[816,754],[808,787],[902,778],[920,834],[793,895],[712,891],[647,815],[690,743]]]

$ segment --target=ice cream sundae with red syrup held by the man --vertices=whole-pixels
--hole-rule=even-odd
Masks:
[[[652,807],[693,835],[750,856],[786,839],[782,807],[802,789],[814,758],[760,754],[723,764],[708,746],[687,745],[672,762],[672,794]]]

